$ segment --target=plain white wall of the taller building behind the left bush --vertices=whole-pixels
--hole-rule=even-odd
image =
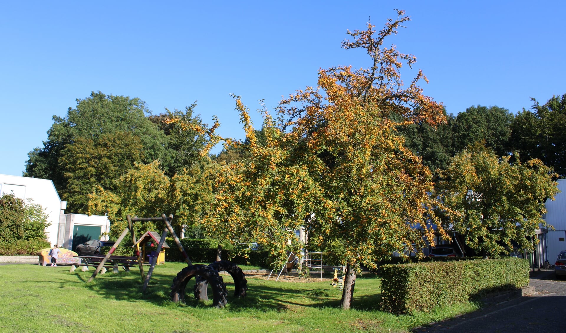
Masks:
[[[49,243],[57,243],[57,233],[59,227],[59,215],[65,209],[66,202],[59,198],[55,190],[53,181],[48,179],[38,179],[20,176],[0,175],[0,194],[14,192],[16,197],[24,200],[31,199],[33,204],[41,205],[48,215],[48,222],[51,223],[46,228],[47,240]]]

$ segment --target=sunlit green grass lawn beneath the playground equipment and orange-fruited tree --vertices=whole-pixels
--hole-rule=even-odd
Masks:
[[[375,277],[357,279],[354,309],[348,311],[337,308],[341,292],[329,280],[250,278],[248,296],[234,299],[232,280],[223,276],[229,294],[226,308],[211,308],[211,301],[199,303],[192,295],[187,305],[177,304],[169,301],[169,291],[183,267],[157,266],[143,295],[135,269],[109,271],[86,284],[92,269],[69,273],[65,266],[0,266],[0,332],[405,332],[477,309],[468,303],[426,314],[379,312],[380,280]],[[192,290],[191,283],[187,290]]]

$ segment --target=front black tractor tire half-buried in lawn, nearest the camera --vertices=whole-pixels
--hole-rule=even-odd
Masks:
[[[192,265],[182,269],[171,285],[171,300],[174,302],[185,302],[185,288],[193,276],[200,276],[212,286],[214,294],[212,306],[224,308],[226,305],[226,285],[218,271],[206,265]]]

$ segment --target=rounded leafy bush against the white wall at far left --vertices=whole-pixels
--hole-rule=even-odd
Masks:
[[[24,202],[13,193],[0,197],[1,242],[45,239],[45,228],[50,224],[40,205]]]

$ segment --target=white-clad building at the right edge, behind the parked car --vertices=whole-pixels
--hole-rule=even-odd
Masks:
[[[554,196],[555,200],[546,200],[546,223],[554,227],[548,227],[546,235],[547,261],[554,265],[556,257],[562,250],[566,250],[566,179],[558,180],[560,193]]]

